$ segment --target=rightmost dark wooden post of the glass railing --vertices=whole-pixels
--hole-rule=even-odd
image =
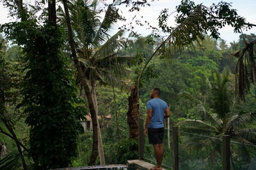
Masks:
[[[230,135],[223,135],[223,170],[230,170]]]

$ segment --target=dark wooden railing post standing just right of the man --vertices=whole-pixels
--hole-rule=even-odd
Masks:
[[[172,156],[173,156],[173,170],[179,169],[179,138],[178,131],[179,127],[173,124],[172,127]]]

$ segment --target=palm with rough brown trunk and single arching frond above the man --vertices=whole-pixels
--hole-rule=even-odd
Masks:
[[[148,57],[143,68],[138,74],[138,79],[134,83],[134,87],[131,88],[131,94],[129,96],[129,110],[127,113],[129,127],[130,127],[130,138],[138,139],[138,129],[143,128],[143,122],[140,120],[139,113],[139,88],[143,73],[147,70],[148,64],[154,57],[159,55],[164,56],[168,59],[172,59],[172,56],[176,53],[183,52],[186,48],[192,48],[193,43],[196,41],[198,44],[204,39],[204,29],[199,25],[203,24],[204,13],[202,12],[202,6],[198,6],[191,12],[191,14],[184,18],[184,20],[174,27],[168,37],[157,46],[156,50]]]

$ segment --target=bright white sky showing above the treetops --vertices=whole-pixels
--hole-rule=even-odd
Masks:
[[[150,1],[150,0],[149,0]],[[212,3],[218,3],[221,0],[194,0],[196,4],[203,3],[206,6],[211,5]],[[233,8],[235,8],[239,15],[246,18],[246,20],[252,24],[256,24],[256,0],[223,0],[227,3],[232,3]],[[120,11],[122,11],[122,14],[127,18],[125,22],[118,22],[115,24],[115,27],[113,27],[113,32],[116,32],[118,27],[125,23],[135,23],[134,20],[132,21],[132,17],[134,15],[143,16],[143,20],[147,20],[147,22],[150,22],[150,25],[157,27],[157,17],[159,16],[159,13],[164,8],[168,8],[170,12],[175,11],[175,6],[180,4],[180,0],[159,0],[154,1],[151,3],[151,6],[145,6],[141,8],[139,12],[129,12],[129,8],[125,8],[125,6],[120,6]],[[175,22],[173,21],[173,16],[175,14],[171,15],[170,17],[170,25],[175,25]],[[138,17],[138,19],[140,18]],[[13,20],[13,18],[8,17],[8,10],[3,7],[3,4],[0,3],[0,24],[4,24],[6,22],[10,22]],[[147,36],[150,34],[150,30],[146,29],[146,27],[140,27],[136,24],[134,25],[134,31],[137,31],[139,34],[142,34],[143,36]],[[243,31],[245,34],[254,33],[256,34],[256,27],[251,29],[250,31]],[[224,27],[220,31],[220,36],[222,39],[225,39],[227,42],[231,41],[237,41],[239,34],[235,34],[233,32],[232,27]]]

